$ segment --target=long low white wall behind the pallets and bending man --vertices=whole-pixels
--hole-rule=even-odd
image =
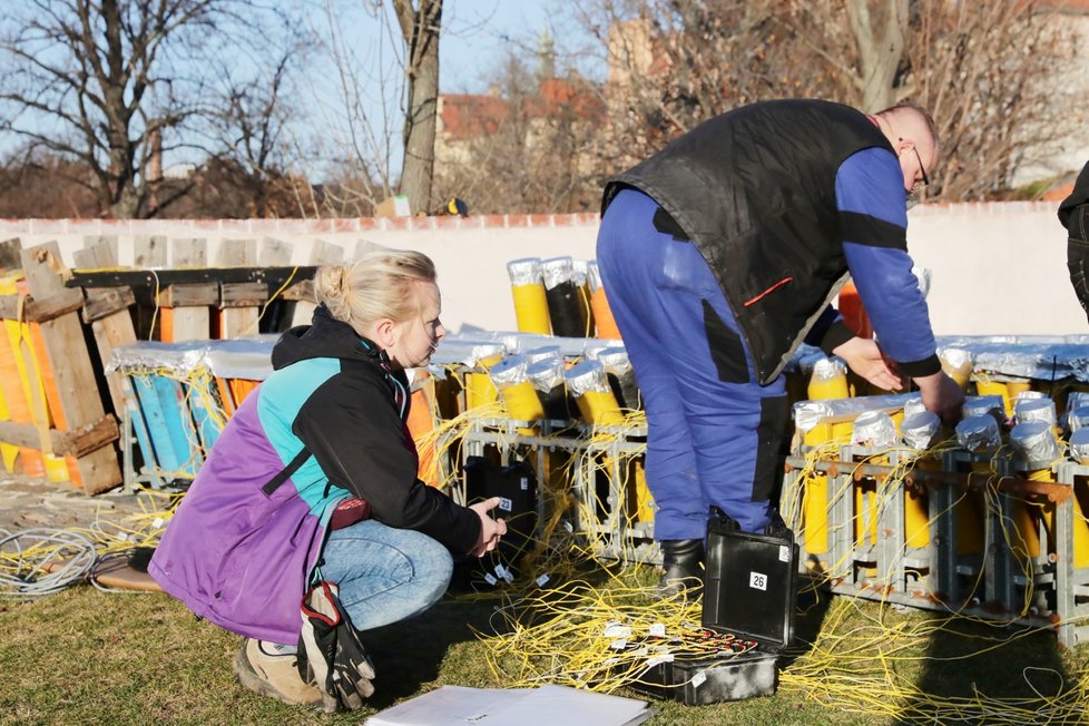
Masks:
[[[1071,334],[1089,324],[1066,268],[1066,233],[1049,203],[920,205],[912,209],[909,248],[932,272],[931,320],[939,335]],[[308,264],[314,239],[355,254],[361,241],[420,249],[439,268],[443,321],[513,330],[507,262],[570,255],[590,259],[596,215],[492,215],[459,219],[336,220],[0,220],[0,238],[24,247],[56,239],[61,256],[98,235],[116,236],[119,262],[131,264],[134,235],[205,237],[209,259],[222,238],[275,237],[293,243],[293,264]]]

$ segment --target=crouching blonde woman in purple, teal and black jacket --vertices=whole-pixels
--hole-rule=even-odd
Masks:
[[[200,618],[245,637],[239,681],[320,705],[296,669],[300,602],[336,583],[357,631],[422,612],[445,591],[451,552],[506,533],[499,502],[454,503],[416,479],[405,370],[445,331],[434,265],[383,251],[318,269],[311,325],[273,350],[178,507],[148,572]],[[364,694],[366,695],[366,694]]]

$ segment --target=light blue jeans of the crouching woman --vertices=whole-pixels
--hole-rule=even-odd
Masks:
[[[420,615],[447,591],[450,551],[426,534],[373,519],[330,532],[322,577],[340,587],[356,630]]]

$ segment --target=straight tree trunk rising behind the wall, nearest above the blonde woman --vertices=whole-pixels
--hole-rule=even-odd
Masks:
[[[400,193],[412,214],[431,209],[434,177],[435,111],[439,106],[439,29],[442,0],[393,0],[405,45],[404,167]]]

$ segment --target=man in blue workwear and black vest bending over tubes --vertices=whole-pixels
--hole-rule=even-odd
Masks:
[[[611,179],[597,257],[644,394],[663,593],[698,577],[708,509],[761,531],[803,340],[885,390],[959,414],[906,249],[906,198],[938,161],[921,109],[815,100],[710,119]],[[830,306],[854,279],[879,344]]]

